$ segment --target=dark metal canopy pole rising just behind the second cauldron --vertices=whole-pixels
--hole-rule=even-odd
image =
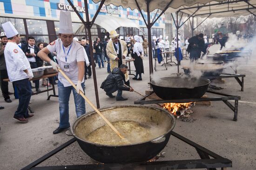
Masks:
[[[149,78],[150,78],[150,82],[152,80],[152,75],[153,75],[153,58],[152,58],[152,47],[151,47],[151,23],[150,23],[150,12],[149,12],[149,2],[150,0],[147,0],[147,13],[148,13],[148,53],[149,53]],[[149,52],[150,51],[150,52]]]

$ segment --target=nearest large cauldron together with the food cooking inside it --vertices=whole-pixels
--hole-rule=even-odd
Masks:
[[[166,146],[175,126],[174,116],[158,107],[117,106],[100,111],[125,139],[120,139],[96,112],[75,120],[71,131],[81,149],[101,163],[148,161]]]

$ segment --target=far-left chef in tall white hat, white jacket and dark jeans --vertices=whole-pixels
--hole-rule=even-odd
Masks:
[[[33,78],[33,73],[26,55],[17,45],[20,43],[19,32],[10,21],[2,24],[2,27],[8,38],[8,43],[4,50],[8,77],[17,88],[19,95],[19,106],[14,113],[13,119],[27,123],[27,118],[34,116],[34,114],[28,114],[27,110],[32,95],[29,80]]]

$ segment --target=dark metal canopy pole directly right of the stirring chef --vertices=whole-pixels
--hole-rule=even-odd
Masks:
[[[89,45],[90,45],[90,57],[91,57],[91,63],[92,63],[92,67],[93,67],[92,69],[93,69],[96,104],[97,104],[97,108],[100,108],[99,93],[98,93],[96,71],[95,71],[95,63],[94,63],[94,55],[93,55],[93,44],[92,44],[92,34],[91,34],[91,26],[92,25],[90,25],[90,22],[89,22],[90,20],[89,20],[89,12],[88,12],[88,0],[84,0],[84,5],[85,5],[85,15],[86,15],[86,21],[87,21],[87,25],[85,25],[85,27],[87,28]]]

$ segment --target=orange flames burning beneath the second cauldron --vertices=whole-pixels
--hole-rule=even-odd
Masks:
[[[166,110],[168,110],[169,113],[172,113],[173,115],[177,116],[176,112],[191,107],[191,104],[193,102],[189,103],[164,103],[162,107]]]

